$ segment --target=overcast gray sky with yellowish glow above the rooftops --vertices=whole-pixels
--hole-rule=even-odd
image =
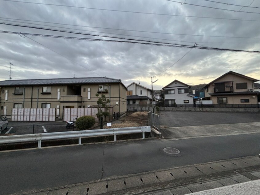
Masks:
[[[238,11],[242,8],[240,11],[259,13],[260,9],[256,8],[231,6],[205,0],[176,1],[220,9],[166,0],[23,1],[66,6],[0,0],[0,22],[192,46],[196,42],[198,46],[260,51],[260,14],[220,10]],[[250,6],[260,7],[259,0],[215,1],[242,6],[249,6],[253,2]],[[182,17],[158,14],[182,15]],[[53,32],[3,24],[0,24],[0,30],[116,40],[115,38]],[[74,75],[76,77],[99,77],[101,75],[121,79],[126,86],[132,82],[140,82],[141,85],[151,88],[152,76],[156,76],[172,66],[190,50],[182,47],[31,35],[25,37],[6,33],[0,33],[0,36],[0,80],[9,79],[9,62],[11,62],[14,64],[11,74],[13,80],[72,78]],[[260,79],[260,54],[192,49],[174,66],[156,76],[154,80],[159,80],[154,83],[154,86],[156,90],[159,90],[172,82],[175,77],[189,85],[208,83],[230,70]]]

